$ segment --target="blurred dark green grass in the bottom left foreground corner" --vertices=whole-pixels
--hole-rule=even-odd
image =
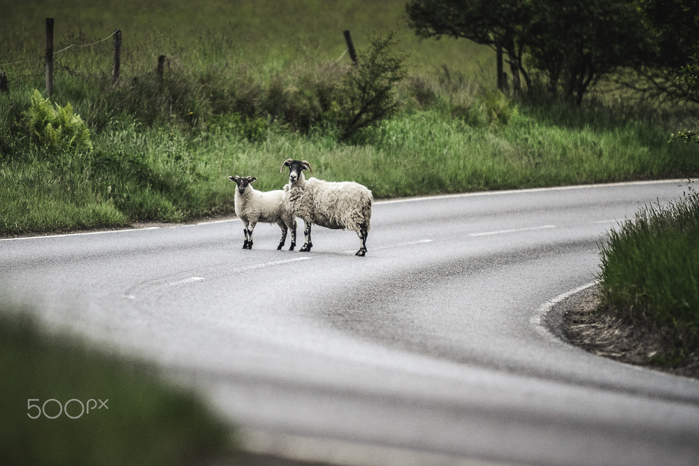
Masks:
[[[45,333],[27,314],[0,307],[0,463],[192,465],[236,454],[231,426],[196,395],[145,364]]]

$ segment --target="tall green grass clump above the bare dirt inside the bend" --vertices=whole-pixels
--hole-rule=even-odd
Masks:
[[[603,305],[668,332],[675,362],[699,349],[699,194],[637,212],[601,249]],[[667,361],[672,362],[672,361]]]

